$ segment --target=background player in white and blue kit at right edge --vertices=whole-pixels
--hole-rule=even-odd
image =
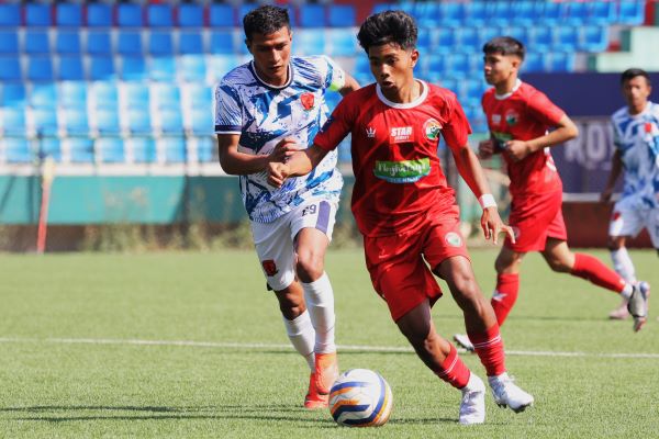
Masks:
[[[659,251],[659,104],[648,100],[652,85],[646,71],[625,70],[621,85],[627,105],[612,116],[615,153],[602,200],[611,200],[615,182],[624,170],[623,193],[614,205],[608,226],[608,249],[615,270],[627,282],[635,283],[626,238],[646,228]],[[649,293],[647,282],[639,285]],[[608,316],[627,318],[626,301]]]

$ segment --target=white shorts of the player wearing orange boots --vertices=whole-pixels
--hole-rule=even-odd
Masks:
[[[252,222],[254,246],[268,285],[281,291],[295,279],[295,237],[303,228],[316,228],[332,240],[336,203],[311,199],[271,223]]]

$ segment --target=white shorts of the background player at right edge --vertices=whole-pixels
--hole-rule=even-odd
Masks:
[[[625,200],[615,203],[608,236],[637,236],[644,228],[648,229],[652,246],[659,249],[659,209],[632,209]]]

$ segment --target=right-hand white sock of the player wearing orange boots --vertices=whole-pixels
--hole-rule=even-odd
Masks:
[[[323,273],[311,283],[301,282],[304,290],[306,309],[311,315],[311,322],[315,329],[316,353],[336,352],[334,344],[334,292],[327,273]]]

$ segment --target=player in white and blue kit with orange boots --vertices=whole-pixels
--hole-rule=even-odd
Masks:
[[[286,9],[264,5],[243,19],[253,60],[230,71],[215,89],[220,164],[237,175],[258,258],[279,301],[289,339],[311,369],[306,408],[327,406],[338,374],[334,295],[324,271],[343,179],[336,154],[309,176],[282,188],[266,167],[293,151],[284,139],[312,144],[330,114],[325,93],[359,88],[325,56],[291,57]]]

